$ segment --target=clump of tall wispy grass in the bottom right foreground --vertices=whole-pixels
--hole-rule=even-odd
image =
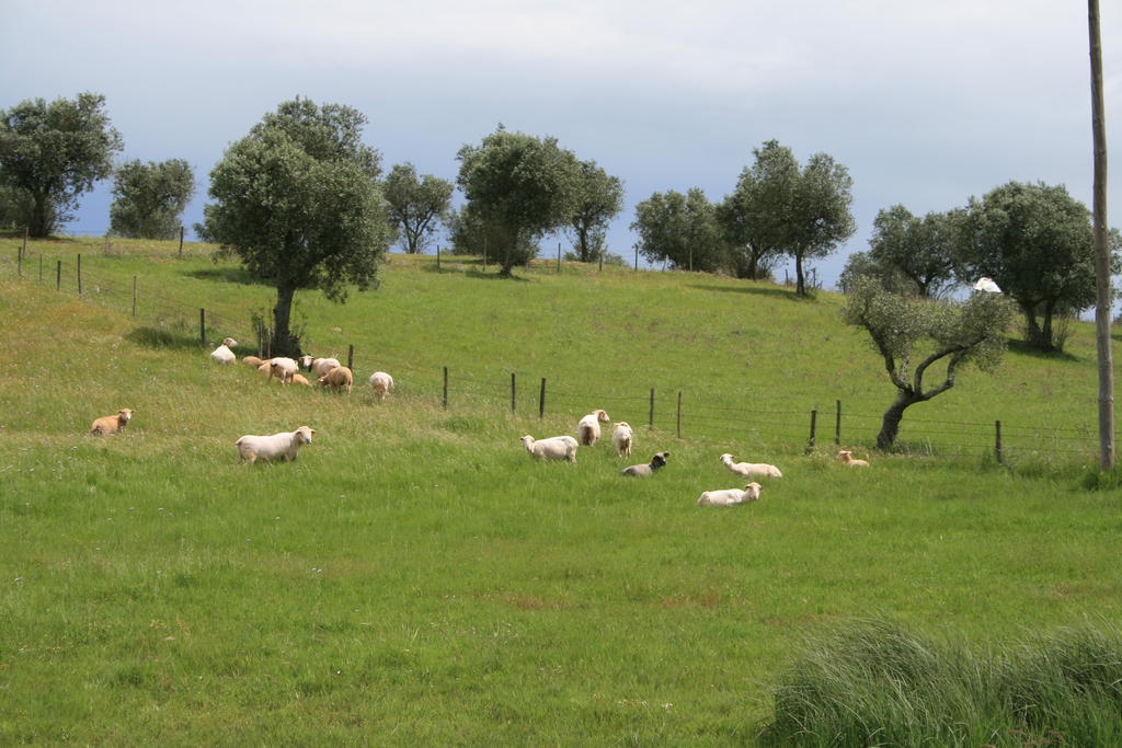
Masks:
[[[992,650],[856,620],[773,690],[764,745],[1122,745],[1122,636],[1083,624]]]

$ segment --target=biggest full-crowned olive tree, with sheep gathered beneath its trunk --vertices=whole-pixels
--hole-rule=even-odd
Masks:
[[[348,284],[362,290],[377,281],[390,229],[379,155],[361,141],[365,123],[350,107],[287,101],[211,172],[215,202],[197,230],[276,287],[274,352],[300,352],[289,332],[297,289],[318,288],[342,303]]]

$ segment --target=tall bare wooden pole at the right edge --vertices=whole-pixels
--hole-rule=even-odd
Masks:
[[[1111,354],[1111,262],[1106,241],[1106,118],[1103,107],[1103,48],[1098,0],[1087,0],[1091,36],[1091,129],[1095,153],[1095,340],[1098,348],[1098,462],[1114,468],[1114,362]]]

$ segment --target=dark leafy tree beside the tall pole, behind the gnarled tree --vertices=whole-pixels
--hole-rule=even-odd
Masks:
[[[988,276],[1020,306],[1029,345],[1057,348],[1054,318],[1095,303],[1091,213],[1063,185],[1010,182],[971,197],[956,250],[965,279]]]

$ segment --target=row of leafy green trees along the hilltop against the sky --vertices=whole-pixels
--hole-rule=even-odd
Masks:
[[[190,165],[131,160],[113,168],[123,140],[104,104],[102,95],[81,93],[0,112],[0,224],[48,236],[72,218],[83,193],[111,176],[112,234],[178,234],[195,191]],[[408,163],[383,176],[380,154],[361,141],[366,121],[346,105],[288,101],[266,113],[211,170],[213,202],[196,231],[275,283],[282,338],[289,336],[287,310],[297,289],[320,288],[342,301],[349,284],[366,288],[377,281],[378,261],[394,242],[421,252],[441,228],[453,252],[486,252],[503,275],[527,264],[557,232],[572,240],[568,259],[623,262],[606,246],[608,225],[623,211],[623,181],[555,138],[499,124],[459,150],[453,184],[419,175]],[[643,257],[751,279],[769,278],[776,262],[790,258],[795,290],[806,294],[807,264],[829,256],[856,231],[853,181],[828,154],[800,164],[778,140],[753,154],[720,202],[699,188],[640,202],[631,228]],[[457,187],[466,202],[454,209]],[[1112,239],[1116,250],[1119,234]],[[964,207],[925,216],[893,205],[876,216],[868,243],[868,251],[849,257],[844,292],[873,278],[893,294],[938,299],[988,276],[1023,314],[1027,342],[1041,350],[1061,347],[1057,320],[1095,301],[1089,211],[1064,186],[1011,182]],[[275,341],[274,350],[285,348]]]

